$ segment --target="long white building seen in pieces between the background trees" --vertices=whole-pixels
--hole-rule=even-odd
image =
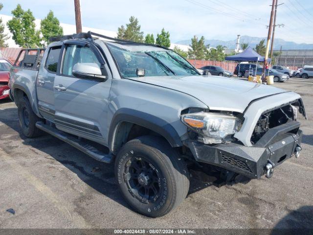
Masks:
[[[19,47],[18,45],[15,44],[14,40],[12,39],[12,34],[10,33],[6,23],[12,19],[12,16],[7,16],[7,15],[1,15],[0,14],[0,18],[2,18],[2,23],[5,25],[4,28],[4,33],[7,33],[10,38],[7,40],[7,44],[9,47]],[[40,29],[40,22],[41,20],[36,19],[35,20],[35,24],[36,24],[36,29],[39,30]],[[75,24],[63,24],[60,23],[60,25],[63,28],[63,34],[64,35],[68,35],[68,34],[73,34],[76,33],[76,25]],[[104,29],[99,29],[99,28],[89,28],[89,27],[83,27],[83,32],[88,32],[88,31],[92,31],[95,33],[99,33],[108,37],[112,37],[115,38],[117,36],[117,32],[115,31],[109,31],[109,30],[104,30]],[[175,46],[179,47],[180,49],[187,51],[189,46],[186,45],[180,45],[180,44],[171,44],[171,49],[173,49]]]

